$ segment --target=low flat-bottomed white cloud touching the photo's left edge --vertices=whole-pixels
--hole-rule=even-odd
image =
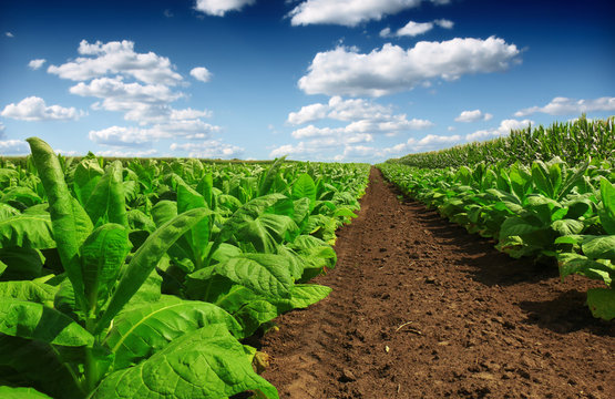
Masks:
[[[78,111],[72,106],[47,106],[43,99],[29,96],[21,100],[18,104],[10,103],[4,106],[4,110],[0,113],[0,115],[20,121],[61,121],[78,120],[83,116],[84,113],[83,111]]]

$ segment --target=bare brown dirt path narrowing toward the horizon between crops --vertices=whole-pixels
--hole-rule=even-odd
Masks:
[[[584,306],[593,282],[562,284],[370,178],[315,280],[331,295],[263,338],[281,398],[615,398],[615,324]]]

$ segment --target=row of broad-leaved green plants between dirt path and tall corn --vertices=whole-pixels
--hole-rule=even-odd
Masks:
[[[470,233],[492,237],[512,257],[556,259],[571,274],[604,282],[587,291],[595,317],[615,317],[615,171],[606,161],[577,166],[554,157],[531,166],[440,170],[381,164],[385,177]]]

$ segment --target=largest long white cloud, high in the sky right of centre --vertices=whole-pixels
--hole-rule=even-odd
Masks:
[[[495,37],[422,41],[408,50],[387,43],[368,54],[338,47],[317,53],[298,85],[308,94],[380,96],[430,79],[503,71],[519,62],[519,54],[515,44]]]

